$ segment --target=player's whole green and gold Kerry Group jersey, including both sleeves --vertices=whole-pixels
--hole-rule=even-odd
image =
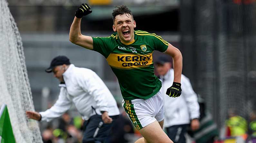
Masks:
[[[118,78],[125,100],[148,99],[161,88],[154,74],[153,51],[165,52],[168,42],[146,31],[134,31],[134,41],[123,44],[117,33],[92,37],[93,50],[101,53]]]

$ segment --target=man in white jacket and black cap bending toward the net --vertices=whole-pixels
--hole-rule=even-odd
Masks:
[[[49,122],[60,117],[73,103],[85,120],[83,143],[104,142],[119,116],[119,109],[100,77],[90,69],[75,67],[66,56],[55,57],[45,71],[53,72],[61,82],[59,98],[44,112],[26,111],[28,118]]]

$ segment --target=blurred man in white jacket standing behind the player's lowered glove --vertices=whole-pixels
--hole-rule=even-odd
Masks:
[[[156,72],[162,81],[162,96],[164,99],[165,123],[168,137],[174,143],[185,143],[185,133],[189,124],[192,130],[199,128],[199,104],[197,95],[194,92],[189,79],[185,75],[181,75],[182,93],[180,97],[170,98],[165,94],[167,88],[173,81],[174,70],[172,68],[171,58],[160,56],[154,62]]]

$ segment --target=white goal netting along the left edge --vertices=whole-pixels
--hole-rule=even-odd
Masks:
[[[28,120],[34,110],[21,36],[5,0],[0,0],[0,105],[6,104],[17,143],[41,143],[38,123]]]

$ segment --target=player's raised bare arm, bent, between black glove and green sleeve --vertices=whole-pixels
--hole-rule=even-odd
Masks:
[[[81,18],[74,18],[70,27],[69,41],[84,48],[93,49],[92,37],[81,34]]]

